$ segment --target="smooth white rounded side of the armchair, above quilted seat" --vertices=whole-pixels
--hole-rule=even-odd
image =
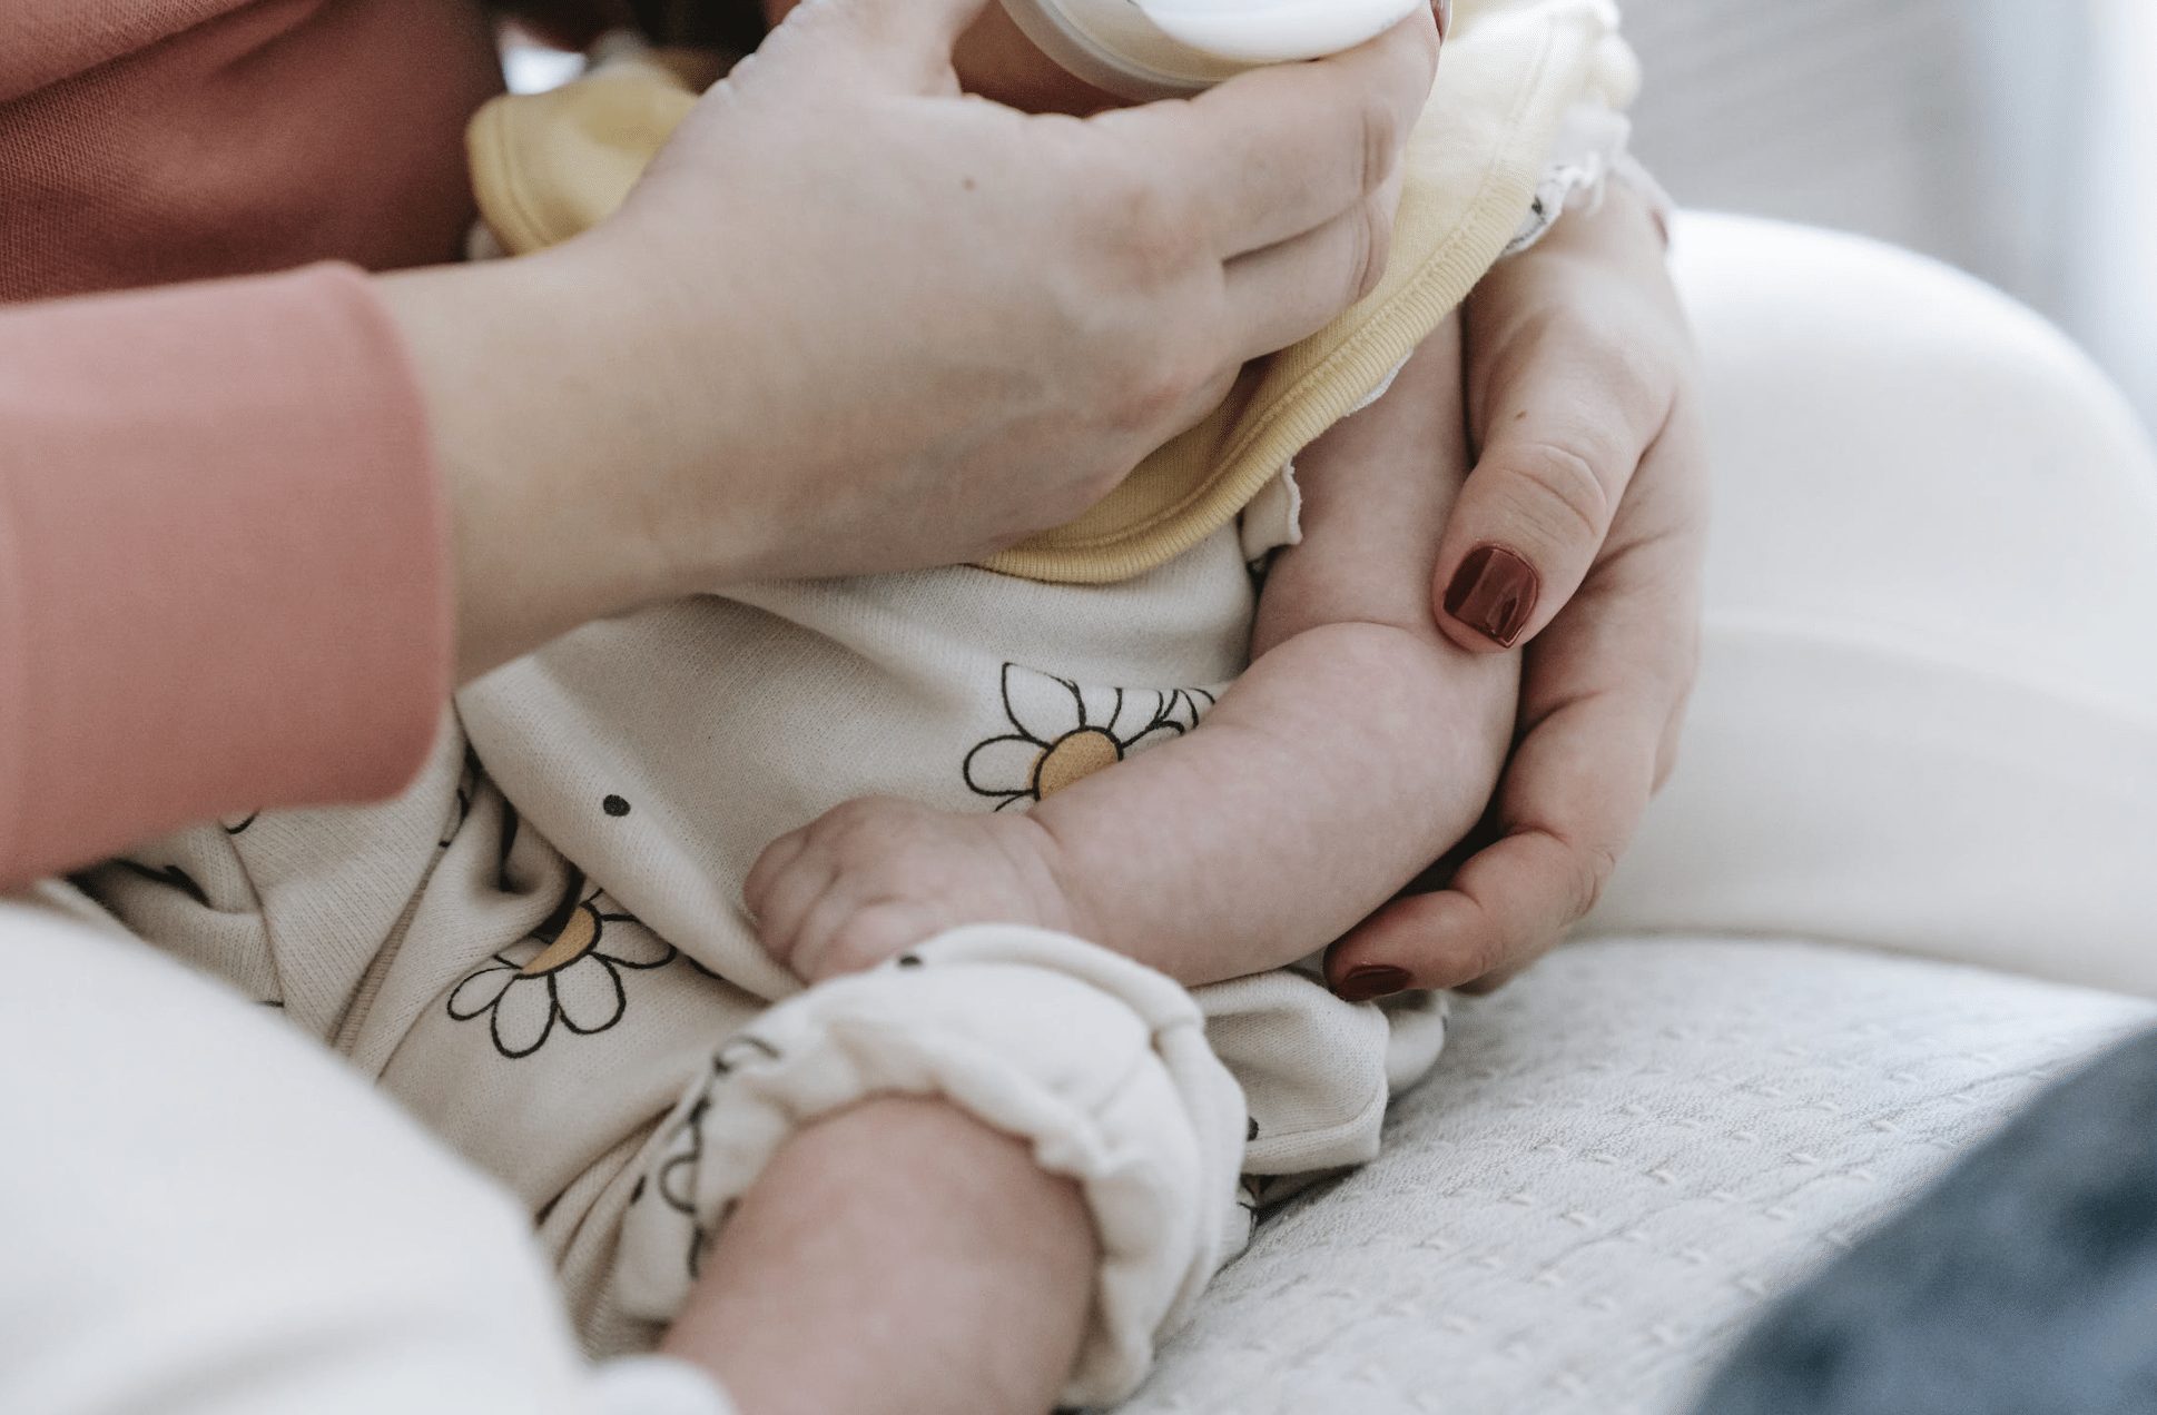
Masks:
[[[1678,772],[1590,932],[1840,938],[2157,997],[2157,459],[1933,261],[1691,218],[1717,509]]]

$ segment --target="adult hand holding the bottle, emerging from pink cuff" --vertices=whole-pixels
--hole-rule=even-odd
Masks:
[[[984,0],[809,0],[591,233],[403,276],[466,671],[742,578],[1070,520],[1385,263],[1428,13],[1074,121],[960,97]]]

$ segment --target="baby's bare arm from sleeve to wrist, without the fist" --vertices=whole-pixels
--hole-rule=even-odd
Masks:
[[[1251,669],[1199,731],[1035,807],[1074,932],[1186,981],[1337,938],[1469,833],[1512,740],[1516,660],[1430,617],[1467,475],[1460,332],[1299,462],[1301,546],[1266,576]]]

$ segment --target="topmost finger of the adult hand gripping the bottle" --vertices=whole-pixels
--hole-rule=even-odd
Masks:
[[[1439,37],[1417,11],[1307,65],[1240,73],[1195,99],[1104,112],[1227,261],[1355,211],[1385,186],[1430,99]]]

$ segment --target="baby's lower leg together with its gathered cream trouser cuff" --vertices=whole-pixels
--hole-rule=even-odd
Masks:
[[[1016,928],[785,999],[623,1176],[606,1316],[667,1322],[742,1415],[1122,1400],[1242,1236],[1204,1027],[1158,973]]]

